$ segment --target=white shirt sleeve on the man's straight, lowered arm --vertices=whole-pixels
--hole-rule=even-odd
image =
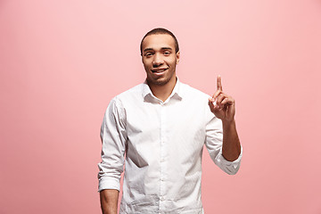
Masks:
[[[111,100],[105,111],[100,133],[102,161],[98,163],[98,192],[117,189],[123,172],[126,150],[126,111],[117,98]]]

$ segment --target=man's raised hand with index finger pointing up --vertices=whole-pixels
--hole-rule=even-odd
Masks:
[[[212,111],[218,119],[230,122],[235,118],[235,99],[230,95],[223,93],[222,80],[218,75],[217,91],[209,98],[210,111]]]

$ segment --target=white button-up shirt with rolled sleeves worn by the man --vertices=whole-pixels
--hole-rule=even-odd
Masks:
[[[146,82],[111,100],[101,129],[98,191],[119,190],[125,162],[120,213],[203,213],[204,144],[220,169],[237,172],[243,150],[235,161],[222,156],[222,122],[209,97],[177,79],[165,102]]]

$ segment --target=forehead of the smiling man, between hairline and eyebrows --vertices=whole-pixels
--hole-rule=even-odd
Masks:
[[[142,49],[152,48],[154,50],[162,47],[170,47],[175,50],[175,40],[169,34],[153,34],[144,38]]]

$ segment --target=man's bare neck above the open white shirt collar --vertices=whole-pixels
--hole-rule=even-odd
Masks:
[[[169,98],[169,95],[172,93],[176,82],[177,82],[177,78],[176,76],[174,76],[174,78],[170,78],[169,82],[163,86],[152,85],[152,84],[149,84],[148,82],[147,83],[148,83],[148,86],[151,88],[152,95],[159,98],[162,102],[165,102],[167,98]]]

